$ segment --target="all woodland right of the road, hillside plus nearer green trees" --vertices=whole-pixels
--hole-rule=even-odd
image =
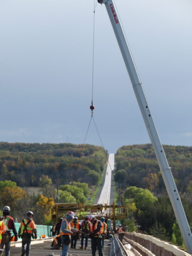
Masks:
[[[192,147],[163,148],[192,227]],[[117,150],[115,161],[115,181],[122,201],[129,206],[129,224],[136,222],[143,233],[178,241],[180,230],[152,145],[123,146]],[[177,244],[182,245],[182,238],[179,241]]]

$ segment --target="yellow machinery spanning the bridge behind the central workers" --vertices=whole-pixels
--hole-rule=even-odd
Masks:
[[[69,211],[75,212],[75,215],[79,220],[84,220],[86,215],[93,214],[96,218],[113,220],[113,226],[115,227],[116,220],[122,220],[128,218],[128,207],[119,206],[113,203],[112,205],[83,205],[78,203],[69,204],[55,204],[52,208],[52,221],[58,222],[60,218],[66,216]]]

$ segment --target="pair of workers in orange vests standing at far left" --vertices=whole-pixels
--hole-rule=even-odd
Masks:
[[[10,216],[10,207],[3,208],[3,217],[0,218],[0,248],[3,251],[5,246],[5,256],[10,256],[11,241],[17,242],[18,237],[22,238],[21,256],[25,254],[29,256],[31,237],[37,238],[37,230],[33,221],[33,212],[29,211],[26,215],[27,217],[21,221],[17,232],[14,220]]]

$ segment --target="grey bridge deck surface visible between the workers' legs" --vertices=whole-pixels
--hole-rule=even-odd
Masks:
[[[110,246],[108,246],[107,244],[110,243],[109,240],[106,239],[105,241],[105,247],[104,247],[104,255],[107,254],[107,252],[109,251]],[[77,249],[70,249],[69,250],[69,256],[91,256],[91,240],[88,240],[88,250],[81,250],[79,249],[79,247],[81,246],[80,241],[77,241]],[[61,250],[53,250],[51,249],[51,242],[44,242],[44,243],[38,243],[38,244],[31,244],[31,250],[30,250],[30,256],[47,256],[47,255],[52,255],[52,253],[54,253],[53,255],[55,256],[61,256]],[[4,253],[3,253],[4,255]],[[12,256],[19,256],[21,255],[21,247],[11,247],[11,255]],[[97,251],[97,254],[98,251]]]

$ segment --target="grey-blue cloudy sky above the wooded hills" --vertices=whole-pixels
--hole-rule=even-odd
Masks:
[[[95,2],[96,3],[96,2]],[[163,144],[192,146],[191,0],[116,0]],[[0,0],[0,141],[83,143],[94,0]],[[103,146],[150,143],[105,5],[95,8],[94,121]],[[91,122],[86,143],[101,146]]]

